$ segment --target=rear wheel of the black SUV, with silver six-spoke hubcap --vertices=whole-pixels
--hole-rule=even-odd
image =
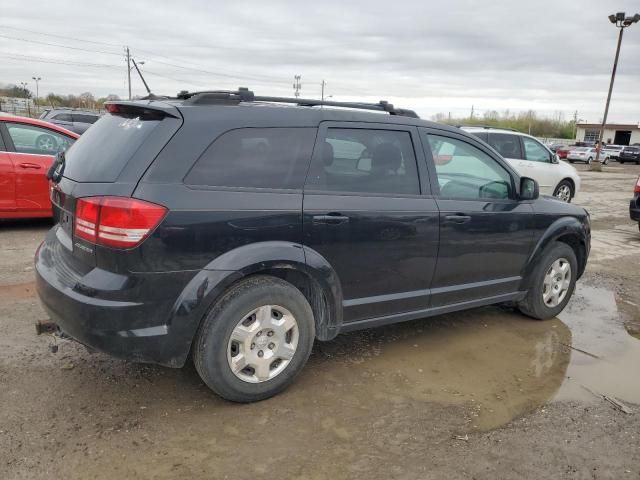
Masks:
[[[255,402],[287,388],[315,339],[313,312],[284,280],[255,276],[224,294],[198,331],[193,360],[206,385],[233,402]]]

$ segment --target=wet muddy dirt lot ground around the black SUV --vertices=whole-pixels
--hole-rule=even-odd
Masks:
[[[32,256],[50,224],[0,225],[0,479],[640,479],[640,167],[582,173],[593,249],[559,319],[483,308],[341,335],[252,405],[192,366],[49,353]]]

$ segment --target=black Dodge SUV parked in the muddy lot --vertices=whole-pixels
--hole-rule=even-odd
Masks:
[[[497,303],[552,318],[585,269],[584,209],[386,102],[107,109],[50,170],[48,326],[124,359],[191,355],[224,398],[276,394],[341,332]]]

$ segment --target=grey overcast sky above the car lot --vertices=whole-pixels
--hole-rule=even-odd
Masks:
[[[569,118],[578,110],[598,121],[615,11],[640,12],[640,2],[3,2],[0,83],[35,90],[37,75],[41,96],[125,97],[129,45],[158,94],[248,86],[291,95],[299,74],[304,97],[320,97],[324,79],[334,99],[388,99],[427,118],[468,116],[473,105],[480,115],[532,109]],[[144,94],[135,72],[132,82]],[[640,123],[640,24],[625,31],[609,120]]]

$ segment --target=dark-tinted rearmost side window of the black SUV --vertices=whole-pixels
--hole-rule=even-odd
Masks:
[[[187,185],[302,188],[315,128],[240,128],[222,134],[185,177]]]

